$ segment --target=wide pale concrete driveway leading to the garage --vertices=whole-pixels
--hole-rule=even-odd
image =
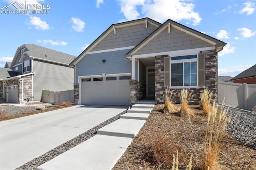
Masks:
[[[0,169],[14,169],[125,111],[125,106],[73,106],[0,122]]]

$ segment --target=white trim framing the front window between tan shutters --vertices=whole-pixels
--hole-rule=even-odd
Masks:
[[[190,54],[190,55],[196,55],[197,56],[197,54]],[[182,56],[182,55],[180,55],[180,56]],[[184,83],[184,63],[186,63],[186,62],[195,62],[195,61],[197,63],[198,62],[197,61],[197,57],[196,58],[192,58],[192,59],[178,59],[178,60],[171,60],[170,61],[170,68],[171,68],[171,64],[183,63],[183,83]],[[171,86],[171,85],[172,85],[172,71],[170,69],[170,87],[169,87],[169,89],[199,88],[198,87],[198,65],[196,65],[196,86]]]

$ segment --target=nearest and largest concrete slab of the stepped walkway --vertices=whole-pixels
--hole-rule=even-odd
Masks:
[[[95,135],[38,166],[38,170],[111,170],[132,138]]]

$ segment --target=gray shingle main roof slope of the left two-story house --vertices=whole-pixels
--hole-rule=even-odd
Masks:
[[[69,64],[76,58],[74,55],[69,55],[60,51],[55,51],[53,49],[41,47],[39,45],[34,45],[31,43],[25,44],[25,46],[28,48],[28,51],[26,51],[28,55],[31,57],[36,57],[38,59]]]

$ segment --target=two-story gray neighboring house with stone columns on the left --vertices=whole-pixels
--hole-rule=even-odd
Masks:
[[[42,89],[73,89],[74,68],[69,63],[74,58],[34,44],[18,47],[10,69],[0,69],[0,97],[6,102],[22,103],[27,97],[40,101]]]

